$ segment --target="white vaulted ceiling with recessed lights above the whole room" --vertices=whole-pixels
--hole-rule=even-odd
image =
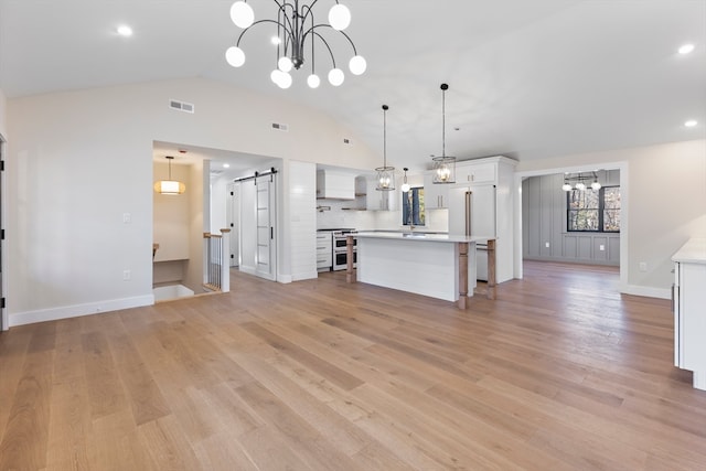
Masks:
[[[706,138],[706,0],[343,2],[367,72],[312,90],[302,69],[282,90],[268,78],[271,45],[256,35],[243,42],[244,67],[225,62],[240,31],[231,0],[0,0],[0,87],[13,98],[207,77],[319,108],[372,149],[382,149],[384,103],[388,160],[411,168],[441,153],[442,82],[447,153],[459,159]],[[271,1],[249,3],[261,17]],[[332,3],[319,0],[321,21]],[[135,34],[119,38],[120,23]],[[684,43],[692,54],[677,53]],[[347,72],[350,52],[334,54]],[[325,62],[317,55],[320,75]]]

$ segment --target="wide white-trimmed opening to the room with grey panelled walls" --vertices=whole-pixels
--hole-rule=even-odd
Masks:
[[[548,261],[586,270],[612,267],[627,285],[625,163],[518,172],[515,185],[515,278],[524,277],[525,261]]]

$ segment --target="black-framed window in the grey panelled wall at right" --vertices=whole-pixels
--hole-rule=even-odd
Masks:
[[[568,232],[620,232],[620,186],[566,192]]]

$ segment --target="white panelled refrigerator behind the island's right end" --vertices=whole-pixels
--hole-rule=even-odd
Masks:
[[[494,184],[449,189],[449,234],[496,237]],[[475,278],[488,281],[488,245],[475,246]]]

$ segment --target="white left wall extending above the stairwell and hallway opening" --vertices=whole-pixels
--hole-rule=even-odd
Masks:
[[[195,114],[170,109],[170,99],[193,103]],[[152,302],[156,140],[341,167],[378,160],[343,144],[354,138],[349,130],[285,94],[201,78],[15,98],[7,118],[11,325]],[[275,121],[289,132],[271,130]],[[285,181],[280,194],[288,189]]]

